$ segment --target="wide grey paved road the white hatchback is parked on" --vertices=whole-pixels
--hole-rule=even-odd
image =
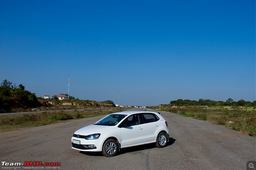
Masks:
[[[111,158],[98,152],[79,152],[71,149],[73,133],[104,117],[98,116],[0,133],[0,159],[7,163],[60,162],[60,166],[54,166],[55,169],[108,170],[246,169],[246,162],[256,160],[255,137],[210,122],[161,111],[160,113],[168,122],[170,130],[170,142],[165,148],[156,148],[154,144],[124,148]],[[3,166],[3,163],[0,165],[1,169],[7,167],[12,166]],[[24,169],[24,166],[17,167]]]

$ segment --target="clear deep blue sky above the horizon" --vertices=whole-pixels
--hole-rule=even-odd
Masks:
[[[38,97],[254,101],[255,0],[0,0],[0,57]]]

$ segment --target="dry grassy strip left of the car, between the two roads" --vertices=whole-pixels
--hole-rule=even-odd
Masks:
[[[32,128],[69,120],[83,119],[88,117],[108,115],[115,112],[128,110],[128,107],[100,108],[83,111],[52,112],[46,111],[37,114],[24,115],[0,115],[0,132]]]

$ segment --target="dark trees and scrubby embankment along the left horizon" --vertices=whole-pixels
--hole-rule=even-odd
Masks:
[[[95,107],[115,107],[115,104],[111,100],[79,100],[78,98],[75,99],[73,96],[64,100],[58,100],[57,97],[44,99],[42,97],[37,97],[35,93],[25,90],[25,86],[22,84],[16,86],[16,84],[13,84],[6,79],[0,86],[0,113]]]

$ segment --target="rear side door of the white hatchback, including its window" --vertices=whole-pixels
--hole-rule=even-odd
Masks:
[[[143,119],[144,142],[156,140],[159,131],[159,118],[153,113],[142,113],[141,116]]]

